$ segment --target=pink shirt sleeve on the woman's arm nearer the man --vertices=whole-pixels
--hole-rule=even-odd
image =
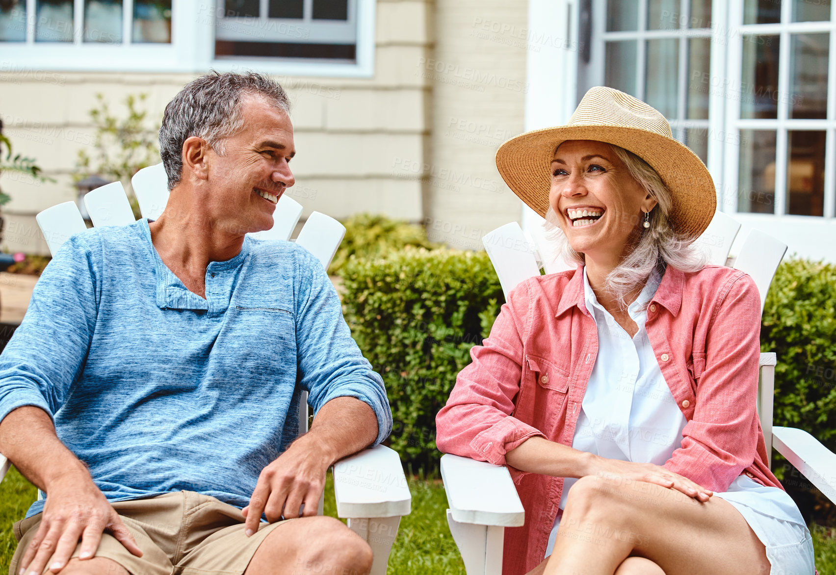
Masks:
[[[503,466],[508,451],[534,435],[545,437],[511,415],[523,372],[531,300],[527,283],[508,294],[490,336],[473,346],[472,363],[456,377],[450,398],[436,415],[439,450]]]

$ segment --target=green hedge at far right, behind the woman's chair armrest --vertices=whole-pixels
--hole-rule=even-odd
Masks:
[[[761,350],[777,354],[775,425],[836,450],[836,266],[788,260],[767,294]]]

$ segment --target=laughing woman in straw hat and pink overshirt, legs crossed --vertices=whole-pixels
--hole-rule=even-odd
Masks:
[[[603,87],[497,166],[578,264],[509,294],[436,420],[439,449],[512,472],[503,572],[813,575],[757,419],[757,287],[692,245],[706,166]]]

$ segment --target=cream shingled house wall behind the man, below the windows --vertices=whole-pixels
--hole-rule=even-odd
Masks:
[[[410,221],[424,217],[425,182],[411,166],[428,162],[434,84],[413,63],[431,57],[434,10],[423,0],[378,0],[375,74],[369,79],[277,77],[293,104],[297,184],[288,193],[304,206],[303,217],[311,211],[338,218],[362,211]],[[158,124],[166,103],[198,75],[0,70],[15,70],[0,72],[3,133],[15,153],[32,156],[56,180],[0,176],[0,187],[12,196],[3,206],[0,248],[44,254],[48,248],[34,216],[75,199],[71,174],[78,152],[95,155],[88,114],[94,94],[104,94],[111,109],[124,114],[126,95],[146,93],[146,108]]]

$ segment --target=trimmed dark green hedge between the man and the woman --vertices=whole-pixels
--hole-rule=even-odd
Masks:
[[[345,319],[389,394],[390,445],[434,468],[436,413],[504,302],[497,274],[485,252],[419,248],[353,258],[341,273]]]

